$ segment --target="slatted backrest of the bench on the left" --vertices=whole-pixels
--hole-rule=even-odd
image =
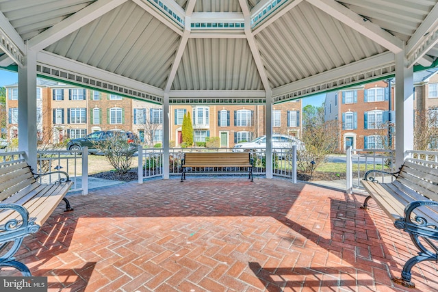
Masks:
[[[0,168],[0,202],[21,189],[35,183],[27,162],[5,165]]]

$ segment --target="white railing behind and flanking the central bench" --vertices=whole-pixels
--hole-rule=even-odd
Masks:
[[[169,174],[181,175],[181,159],[185,152],[233,152],[235,148],[170,148],[169,152]],[[266,149],[257,150],[239,148],[239,151],[247,151],[253,158],[253,174],[266,174]],[[163,149],[162,148],[142,148],[138,149],[138,183],[142,183],[146,178],[162,176]],[[273,174],[292,178],[296,183],[296,148],[273,149]],[[206,169],[206,172],[208,170]],[[243,173],[243,172],[242,172]],[[231,174],[231,172],[230,172]]]

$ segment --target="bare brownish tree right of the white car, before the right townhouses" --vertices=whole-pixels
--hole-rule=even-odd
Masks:
[[[337,144],[339,130],[335,121],[324,121],[324,107],[306,105],[302,108],[302,137],[305,149],[299,150],[297,167],[301,172],[312,172]]]

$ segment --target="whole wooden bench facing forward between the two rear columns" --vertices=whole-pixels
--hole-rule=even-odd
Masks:
[[[244,172],[248,172],[248,179],[253,181],[253,159],[248,152],[187,152],[184,153],[181,168],[181,182],[187,172],[206,172],[205,168],[225,172],[243,172],[244,168]]]

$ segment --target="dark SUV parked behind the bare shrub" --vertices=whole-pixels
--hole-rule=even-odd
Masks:
[[[137,148],[140,144],[140,140],[136,134],[126,131],[97,131],[86,135],[85,137],[72,139],[67,143],[67,150],[79,151],[82,147],[88,146],[88,149],[96,149],[96,146],[107,141],[110,137],[120,135],[126,137],[127,142],[133,147]],[[95,151],[91,151],[95,152]]]

